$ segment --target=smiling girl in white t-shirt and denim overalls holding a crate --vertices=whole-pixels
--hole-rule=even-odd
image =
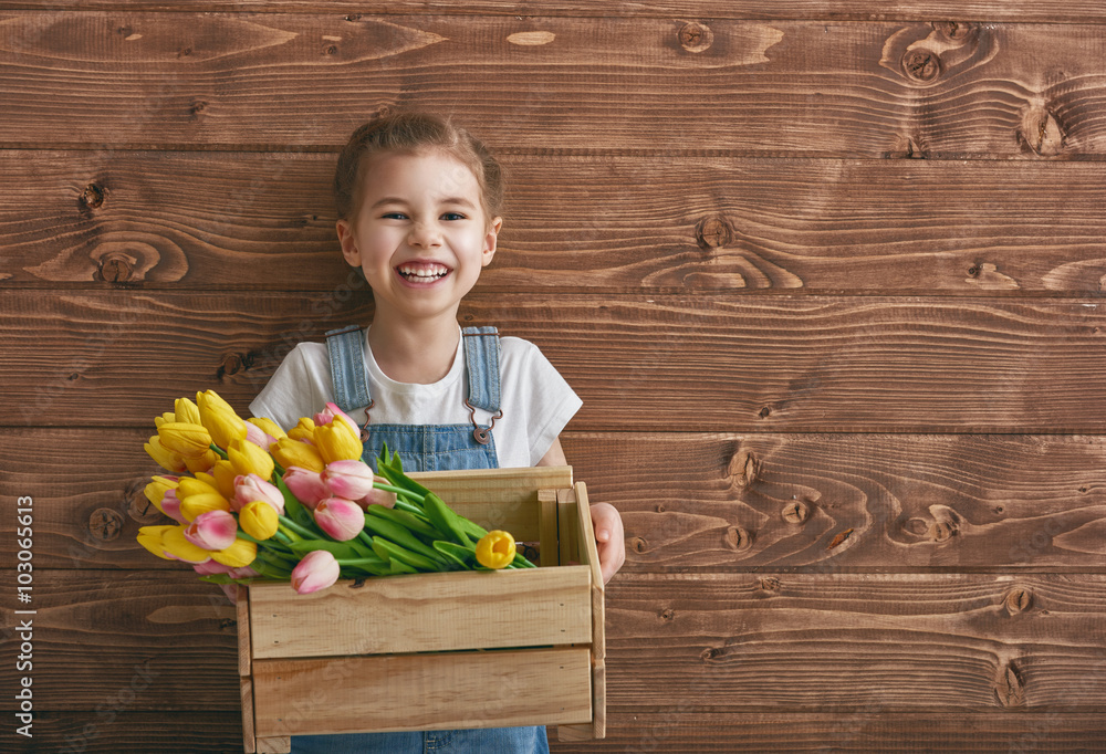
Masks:
[[[494,157],[442,118],[386,116],[351,136],[334,193],[342,253],[373,290],[373,322],[332,331],[325,344],[299,344],[251,404],[253,415],[290,427],[333,401],[363,422],[363,458],[374,468],[384,443],[414,471],[564,464],[560,433],[580,409],[576,394],[532,343],[457,322],[503,224]],[[591,509],[607,580],[625,559],[622,519],[606,503]],[[547,745],[543,727],[511,727],[298,736],[292,751]]]

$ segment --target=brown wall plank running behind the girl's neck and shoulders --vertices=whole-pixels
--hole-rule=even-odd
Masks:
[[[10,292],[3,416],[144,426],[208,388],[244,410],[292,344],[367,318],[363,303],[331,301]],[[1094,433],[1106,421],[1094,301],[565,295],[554,306],[473,293],[460,318],[536,343],[584,400],[573,429]]]

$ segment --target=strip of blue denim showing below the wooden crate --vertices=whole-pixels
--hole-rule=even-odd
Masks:
[[[549,754],[545,726],[292,736],[292,754]]]

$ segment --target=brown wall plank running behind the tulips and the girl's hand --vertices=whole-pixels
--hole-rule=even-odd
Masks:
[[[142,492],[158,472],[146,436],[0,430],[0,536],[30,494],[42,567],[181,572],[135,542],[163,523]],[[622,513],[627,573],[1103,570],[1100,436],[568,431],[563,444],[591,501]]]

